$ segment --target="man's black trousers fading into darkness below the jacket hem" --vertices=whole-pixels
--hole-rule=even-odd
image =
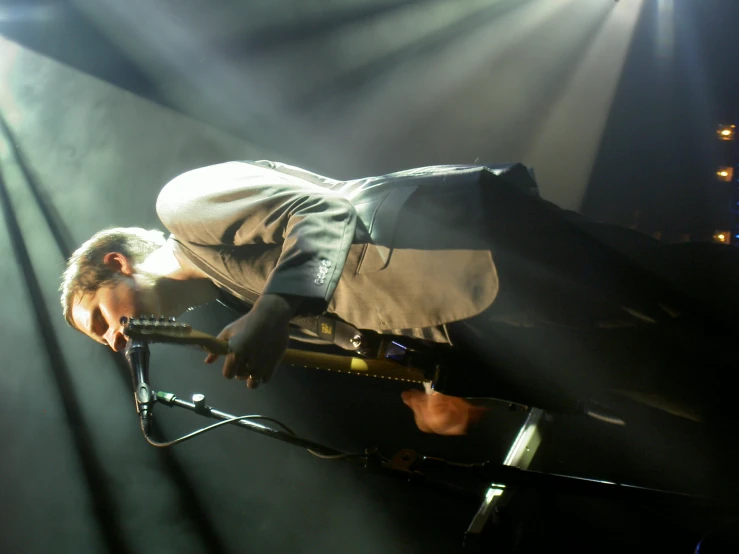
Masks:
[[[486,217],[468,225],[493,253],[500,293],[485,313],[449,325],[457,346],[533,404],[628,398],[715,425],[735,419],[726,386],[737,365],[735,323],[720,303],[670,279],[663,245],[492,174],[481,194]],[[739,253],[722,254],[720,267],[694,266],[693,281],[739,268]],[[671,258],[685,256],[677,249]]]

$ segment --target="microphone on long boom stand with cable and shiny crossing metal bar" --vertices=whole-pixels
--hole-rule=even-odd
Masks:
[[[178,398],[169,392],[150,390],[148,387],[148,341],[137,341],[127,351],[132,363],[135,382],[137,409],[141,418],[141,429],[146,440],[153,446],[168,447],[193,438],[219,425],[237,425],[242,429],[265,435],[295,446],[306,448],[312,454],[331,460],[340,460],[367,470],[382,472],[408,482],[423,483],[454,493],[474,496],[481,502],[475,517],[464,534],[463,544],[468,551],[482,551],[482,537],[486,527],[496,527],[500,519],[495,516],[504,508],[512,495],[519,490],[535,491],[537,494],[575,494],[652,503],[661,507],[726,510],[736,509],[733,499],[699,497],[678,492],[624,485],[594,479],[556,475],[528,470],[529,463],[541,441],[541,425],[545,413],[531,409],[518,437],[513,442],[502,464],[457,463],[442,458],[428,457],[410,449],[397,452],[392,458],[383,457],[376,448],[368,448],[362,454],[348,453],[336,448],[305,439],[293,433],[287,426],[265,416],[235,416],[205,403],[205,395],[194,394],[192,401]],[[219,420],[219,423],[190,433],[170,442],[157,442],[150,436],[150,418],[157,403],[195,412],[203,417]],[[255,422],[255,419],[272,421],[284,430],[275,429]]]

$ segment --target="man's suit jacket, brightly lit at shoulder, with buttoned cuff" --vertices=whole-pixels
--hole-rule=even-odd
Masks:
[[[182,253],[246,302],[293,294],[362,329],[431,327],[479,314],[498,293],[491,252],[472,229],[485,218],[482,174],[535,186],[520,165],[336,181],[229,162],[175,178],[157,213]],[[450,195],[456,209],[440,210],[433,199]]]

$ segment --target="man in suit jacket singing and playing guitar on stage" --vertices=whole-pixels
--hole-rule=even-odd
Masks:
[[[62,284],[65,318],[119,351],[122,316],[176,316],[217,299],[239,305],[248,313],[219,335],[231,348],[223,375],[250,388],[269,381],[291,321],[325,313],[359,330],[484,350],[524,396],[577,398],[617,382],[583,371],[592,358],[567,376],[547,373],[518,330],[556,335],[676,317],[659,280],[540,200],[520,164],[336,181],[276,162],[230,162],[174,179],[157,213],[168,240],[114,229],[75,252]],[[624,235],[621,243],[639,243],[632,250],[654,246]],[[461,399],[415,391],[404,401],[424,431],[463,433],[479,416]]]

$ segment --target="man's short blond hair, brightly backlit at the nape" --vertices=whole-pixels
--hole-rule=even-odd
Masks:
[[[114,227],[95,233],[85,241],[67,261],[62,274],[62,310],[64,319],[75,329],[72,321],[72,302],[115,282],[115,271],[103,263],[109,252],[120,252],[133,265],[143,262],[149,254],[164,246],[164,233],[140,227]]]

